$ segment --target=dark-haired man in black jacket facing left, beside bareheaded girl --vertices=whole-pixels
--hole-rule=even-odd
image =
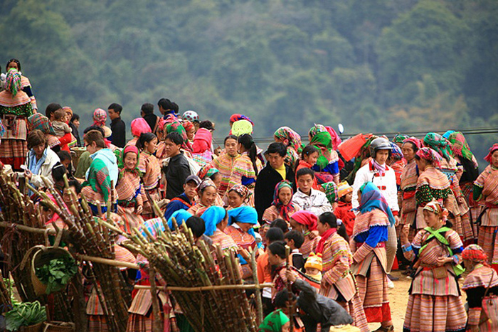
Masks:
[[[184,140],[180,134],[171,132],[164,139],[164,151],[169,156],[169,164],[164,168],[166,174],[166,198],[171,200],[184,192],[184,183],[190,175],[189,161],[180,151]]]

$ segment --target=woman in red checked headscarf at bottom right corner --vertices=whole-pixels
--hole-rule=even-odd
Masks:
[[[466,247],[462,252],[462,259],[469,272],[462,287],[467,293],[469,305],[467,331],[498,331],[497,300],[483,301],[484,296],[498,296],[498,274],[489,267],[487,255],[478,245]],[[493,305],[495,309],[489,310],[489,306]]]

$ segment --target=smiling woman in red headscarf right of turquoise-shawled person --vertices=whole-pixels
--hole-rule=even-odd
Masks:
[[[117,166],[120,168],[120,177],[117,179],[117,214],[124,221],[124,232],[132,234],[133,227],[144,223],[140,183],[141,172],[138,169],[139,151],[137,146],[126,146],[121,153]]]

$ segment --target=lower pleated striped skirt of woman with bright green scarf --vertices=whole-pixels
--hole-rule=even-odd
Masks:
[[[410,295],[403,331],[465,331],[467,314],[460,296]]]

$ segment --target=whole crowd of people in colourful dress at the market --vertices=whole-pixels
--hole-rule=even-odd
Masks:
[[[376,331],[393,331],[388,289],[396,287],[395,262],[412,278],[404,331],[498,331],[498,144],[482,173],[465,136],[453,131],[391,141],[366,135],[346,159],[353,144],[341,144],[332,127],[314,124],[309,144],[280,127],[263,151],[250,117],[233,114],[224,145],[216,146],[216,124],[192,110],[180,114],[166,98],[157,102],[160,115],[142,105],[129,141],[117,103],[95,109],[80,139],[78,114],[58,103],[38,112],[18,60],[6,70],[2,171],[36,191],[52,183],[61,196],[67,176],[94,215],[110,207],[113,222],[129,234],[156,235],[164,227],[159,210],[171,229],[173,220],[186,223],[196,240],[235,251],[244,282],[257,276],[273,284],[263,290],[260,331],[289,331],[291,323],[294,331],[347,324],[370,331],[374,322],[381,323]],[[78,146],[85,152],[74,167]],[[47,210],[46,224],[64,227]],[[134,282],[147,284],[143,257],[121,257],[142,264]],[[462,287],[468,309],[458,283],[462,263],[470,272]],[[151,331],[146,295],[134,293],[128,331]],[[167,328],[191,331],[174,299],[159,299]],[[98,298],[90,296],[89,331],[105,328],[97,309]]]

